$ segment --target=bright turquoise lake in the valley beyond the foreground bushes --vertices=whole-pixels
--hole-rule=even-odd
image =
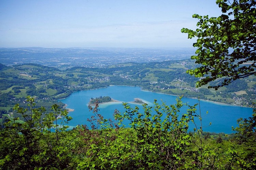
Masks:
[[[92,112],[89,112],[88,102],[91,98],[96,98],[100,96],[109,96],[112,99],[118,100],[120,102],[111,102],[100,104],[101,114],[105,119],[112,118],[115,109],[118,109],[121,113],[125,112],[122,102],[132,102],[134,98],[140,98],[149,106],[153,106],[154,99],[157,99],[158,103],[162,103],[161,100],[166,102],[166,104],[175,104],[177,96],[159,94],[149,91],[143,91],[140,87],[130,87],[130,86],[110,86],[108,88],[101,88],[95,90],[85,90],[77,91],[71,94],[65,99],[60,99],[59,101],[67,104],[66,108],[74,109],[70,112],[70,116],[73,118],[69,124],[70,128],[77,126],[78,124],[87,124],[90,127],[90,123],[87,118],[92,116]],[[182,101],[187,102],[189,105],[194,105],[198,103],[197,99],[182,98]],[[143,112],[142,106],[138,104],[130,103],[131,107],[136,105]],[[197,108],[197,113],[199,113],[199,106]],[[209,101],[200,100],[200,108],[202,115],[203,131],[205,132],[224,132],[224,133],[234,133],[232,131],[232,126],[237,126],[237,119],[248,118],[252,116],[253,109],[249,107],[232,106],[226,104],[218,104]],[[186,112],[187,107],[181,109],[181,113]],[[208,111],[208,114],[206,114]],[[181,115],[181,113],[179,115]],[[198,121],[196,121],[199,123]],[[212,123],[210,126],[210,122]],[[128,125],[128,124],[127,124]],[[199,125],[199,124],[198,124]],[[193,131],[194,125],[190,124],[190,130]]]

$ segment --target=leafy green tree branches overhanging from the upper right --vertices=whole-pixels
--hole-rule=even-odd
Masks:
[[[237,79],[256,75],[256,1],[255,0],[217,0],[222,10],[219,17],[200,16],[196,31],[183,28],[188,38],[197,37],[193,47],[195,56],[201,64],[187,73],[203,77],[197,86],[205,85],[224,77],[221,85],[209,86],[217,90]]]

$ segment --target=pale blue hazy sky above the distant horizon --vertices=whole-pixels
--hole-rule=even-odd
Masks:
[[[0,0],[1,47],[192,47],[193,14],[215,0]]]

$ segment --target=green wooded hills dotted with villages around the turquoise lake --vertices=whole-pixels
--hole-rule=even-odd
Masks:
[[[153,63],[124,63],[109,67],[73,67],[59,70],[38,64],[13,65],[0,70],[0,107],[8,111],[26,96],[40,102],[55,102],[72,92],[109,85],[140,86],[144,90],[184,95],[228,104],[250,106],[255,100],[255,76],[233,82],[219,90],[196,88],[195,78],[186,73],[196,65],[191,60]],[[211,82],[217,85],[220,80]]]

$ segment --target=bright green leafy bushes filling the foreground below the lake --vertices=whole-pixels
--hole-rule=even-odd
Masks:
[[[176,101],[155,100],[142,111],[123,103],[126,111],[116,110],[114,121],[104,119],[96,103],[89,106],[91,129],[78,125],[67,131],[71,117],[66,111],[52,105],[42,118],[45,108],[36,108],[34,98],[27,97],[28,108],[14,107],[25,122],[5,120],[0,129],[0,169],[255,169],[255,113],[238,120],[238,134],[227,141],[212,138],[195,123],[195,118],[202,121],[196,105],[182,103],[181,97]],[[187,133],[189,122],[194,134]]]

